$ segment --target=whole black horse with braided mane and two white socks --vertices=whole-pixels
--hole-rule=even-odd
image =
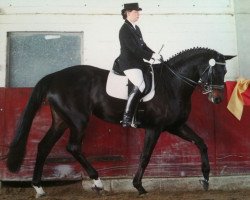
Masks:
[[[202,183],[208,189],[210,165],[207,146],[185,122],[191,110],[191,95],[197,85],[208,94],[211,102],[217,104],[222,101],[225,60],[233,57],[207,48],[193,48],[153,65],[155,96],[142,103],[145,110],[140,126],[146,130],[146,135],[139,167],[133,179],[133,185],[139,194],[146,193],[142,177],[163,131],[193,142],[198,147],[204,176]],[[126,101],[107,95],[105,85],[108,73],[107,70],[88,65],[73,66],[45,76],[34,87],[10,145],[7,166],[12,172],[20,169],[32,121],[42,102],[47,101],[51,109],[52,124],[38,145],[32,180],[38,196],[44,194],[41,176],[46,157],[67,128],[70,130],[67,151],[94,180],[96,189],[102,189],[98,172],[82,154],[81,144],[84,129],[92,114],[117,124],[122,119]]]

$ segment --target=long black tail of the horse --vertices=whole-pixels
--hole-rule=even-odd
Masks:
[[[20,170],[26,153],[26,143],[33,119],[46,97],[50,82],[51,75],[48,75],[36,84],[22,113],[7,156],[7,167],[11,172],[18,172]]]

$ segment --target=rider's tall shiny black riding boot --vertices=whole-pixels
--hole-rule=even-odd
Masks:
[[[137,86],[133,88],[129,94],[127,105],[123,114],[122,126],[129,127],[132,124],[132,119],[135,113],[135,109],[140,101],[142,96],[141,91]]]

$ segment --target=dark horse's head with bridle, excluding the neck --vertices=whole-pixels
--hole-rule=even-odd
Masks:
[[[227,72],[226,60],[235,56],[217,54],[205,61],[205,67],[200,68],[199,83],[203,93],[208,94],[208,100],[218,104],[224,98],[224,78]]]

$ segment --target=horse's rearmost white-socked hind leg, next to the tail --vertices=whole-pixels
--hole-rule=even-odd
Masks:
[[[52,113],[52,125],[44,138],[38,144],[38,151],[36,157],[36,164],[33,172],[32,185],[35,188],[37,194],[36,197],[41,197],[45,195],[41,187],[41,177],[43,172],[43,166],[47,156],[49,155],[51,149],[55,145],[55,143],[59,140],[59,138],[63,135],[66,124],[56,115],[56,113]]]

